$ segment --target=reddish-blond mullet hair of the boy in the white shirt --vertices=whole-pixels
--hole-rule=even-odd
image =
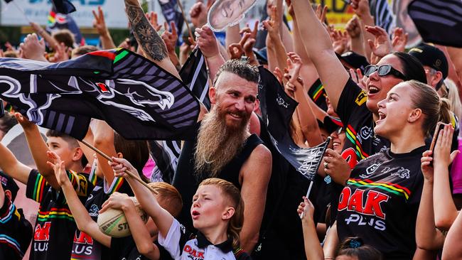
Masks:
[[[227,180],[220,178],[208,178],[199,184],[203,185],[215,185],[217,186],[227,200],[231,203],[231,206],[235,209],[235,214],[230,219],[230,224],[227,227],[227,234],[232,238],[232,247],[239,247],[239,233],[244,223],[244,201],[242,200],[240,190],[236,186]]]

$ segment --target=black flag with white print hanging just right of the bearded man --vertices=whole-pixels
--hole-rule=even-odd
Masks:
[[[313,180],[330,139],[315,147],[297,146],[289,134],[289,124],[298,103],[287,96],[284,87],[269,70],[259,67],[259,72],[260,109],[263,121],[267,122],[272,143],[291,166],[294,166],[308,180]]]

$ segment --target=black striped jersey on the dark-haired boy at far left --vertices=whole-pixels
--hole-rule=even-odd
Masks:
[[[85,202],[93,190],[86,173],[67,171],[80,200]],[[26,196],[40,203],[31,247],[31,260],[70,259],[75,224],[64,193],[55,190],[37,170],[31,170]]]

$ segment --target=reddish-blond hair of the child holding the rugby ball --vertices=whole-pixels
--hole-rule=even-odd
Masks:
[[[154,188],[159,194],[153,195],[159,202],[159,205],[167,210],[173,217],[177,217],[183,207],[181,195],[175,187],[168,183],[148,183],[151,188]]]

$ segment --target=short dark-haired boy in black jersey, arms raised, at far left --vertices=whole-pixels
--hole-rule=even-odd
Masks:
[[[65,160],[66,173],[83,202],[93,189],[88,175],[81,173],[87,161],[77,140],[50,130],[46,134],[48,140],[45,143],[35,124],[20,114],[15,116],[23,126],[38,170],[23,165],[3,145],[0,145],[0,168],[26,184],[26,196],[40,203],[29,259],[70,259],[76,225],[65,197],[60,193],[53,168],[46,164],[48,158],[43,155],[46,156],[45,151],[55,151]]]

